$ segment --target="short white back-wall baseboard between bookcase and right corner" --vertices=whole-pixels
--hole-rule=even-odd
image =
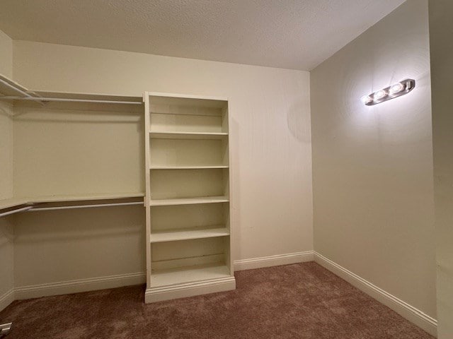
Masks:
[[[306,261],[313,261],[313,251],[235,260],[234,270],[253,270],[254,268],[288,265],[289,263],[304,263]]]

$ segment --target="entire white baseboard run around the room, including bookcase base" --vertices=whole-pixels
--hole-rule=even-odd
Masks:
[[[304,251],[290,254],[280,254],[276,256],[265,256],[261,258],[251,258],[234,261],[234,270],[250,270],[253,268],[264,268],[270,266],[287,265],[290,263],[302,263],[306,261],[316,261],[324,268],[335,273],[340,278],[348,281],[367,295],[377,299],[377,301],[393,309],[398,314],[408,319],[415,325],[423,328],[431,335],[437,336],[437,321],[419,309],[403,302],[389,292],[369,283],[369,281],[343,268],[330,259],[322,256],[316,251]],[[0,296],[0,311],[17,299],[30,299],[45,297],[50,295],[65,295],[76,292],[86,292],[91,290],[103,290],[107,288],[121,287],[127,285],[139,285],[145,283],[146,274],[144,272],[129,273],[124,275],[110,275],[107,277],[90,278],[81,280],[71,280],[61,283],[49,283],[42,285],[32,285],[16,287]],[[166,299],[179,297],[191,297],[205,293],[223,292],[234,290],[236,283],[234,277],[212,280],[208,282],[189,283],[173,287],[163,287],[159,289],[147,290],[145,292],[145,302],[157,302]]]

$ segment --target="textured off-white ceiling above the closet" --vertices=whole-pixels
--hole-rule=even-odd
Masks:
[[[310,70],[404,0],[2,0],[15,40]]]

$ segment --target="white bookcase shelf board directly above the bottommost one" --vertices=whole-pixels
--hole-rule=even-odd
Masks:
[[[155,242],[177,242],[180,240],[226,237],[229,230],[226,227],[211,227],[185,230],[171,230],[166,232],[151,232],[151,244]]]

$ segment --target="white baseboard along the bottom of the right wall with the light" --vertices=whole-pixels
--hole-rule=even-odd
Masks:
[[[428,316],[428,314],[423,313],[423,311],[416,309],[407,302],[403,302],[403,300],[398,299],[376,285],[369,283],[369,281],[364,278],[360,278],[357,274],[352,273],[350,270],[338,265],[338,263],[331,261],[316,251],[314,252],[314,261],[324,268],[327,268],[332,273],[335,273],[340,278],[343,278],[351,285],[357,287],[359,290],[367,293],[367,295],[373,297],[378,302],[386,305],[386,307],[393,309],[396,313],[408,319],[408,321],[423,328],[423,330],[430,333],[430,335],[437,336],[437,320]]]

